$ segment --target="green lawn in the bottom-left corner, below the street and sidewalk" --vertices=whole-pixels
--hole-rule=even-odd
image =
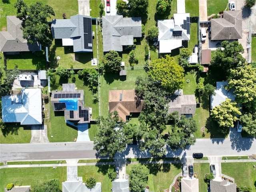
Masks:
[[[16,185],[31,185],[32,188],[36,184],[49,181],[51,179],[59,179],[60,189],[62,182],[67,179],[67,168],[57,167],[36,167],[36,168],[4,168],[0,169],[0,192],[4,192],[4,188],[8,183],[16,182]]]

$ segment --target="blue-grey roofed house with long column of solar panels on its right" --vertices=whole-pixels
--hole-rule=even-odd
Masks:
[[[62,46],[73,46],[74,52],[92,52],[92,17],[74,15],[70,19],[52,20],[52,37]]]

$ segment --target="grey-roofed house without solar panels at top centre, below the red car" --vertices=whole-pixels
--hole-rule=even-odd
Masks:
[[[141,18],[122,15],[102,16],[103,51],[122,52],[123,46],[133,45],[134,38],[142,37]]]

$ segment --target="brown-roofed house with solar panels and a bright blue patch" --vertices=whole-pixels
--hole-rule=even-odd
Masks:
[[[62,84],[62,90],[52,91],[52,110],[64,111],[65,120],[89,123],[91,109],[84,107],[84,90],[75,90],[75,84]]]

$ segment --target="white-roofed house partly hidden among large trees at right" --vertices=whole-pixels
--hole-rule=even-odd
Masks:
[[[218,106],[221,104],[221,102],[224,102],[226,98],[231,99],[231,101],[235,100],[236,95],[234,94],[234,90],[226,90],[225,86],[228,85],[228,82],[216,82],[216,90],[215,95],[210,96],[211,101],[211,109],[213,109],[215,106]]]

